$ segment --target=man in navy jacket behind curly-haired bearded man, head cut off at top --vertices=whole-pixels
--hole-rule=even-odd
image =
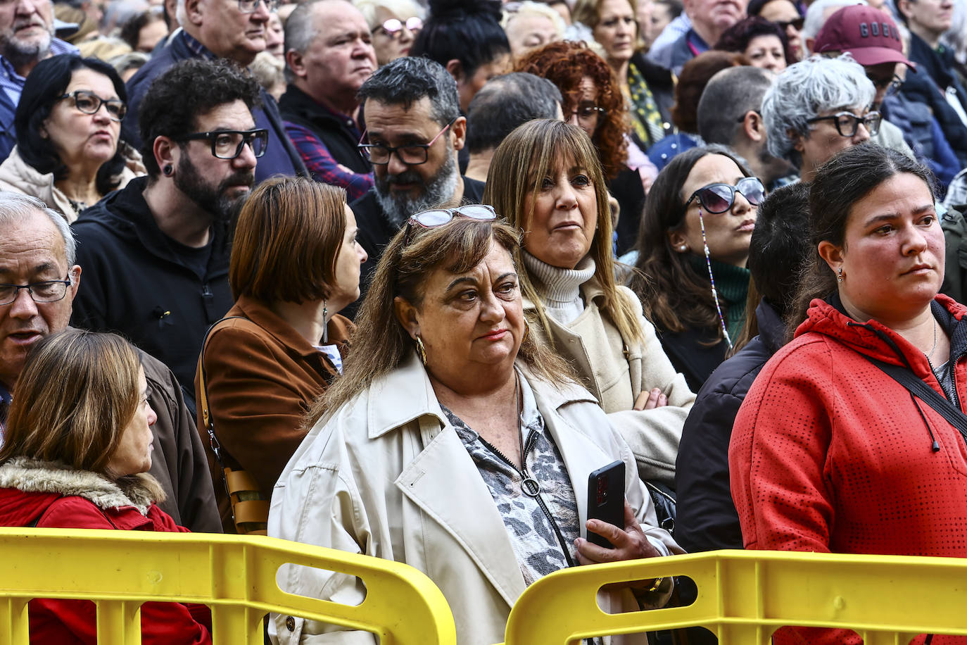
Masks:
[[[179,61],[192,58],[223,59],[245,68],[255,54],[266,47],[269,15],[279,0],[178,0],[177,30],[161,50],[128,81],[128,116],[122,134],[134,146],[145,142],[138,132],[141,101],[152,81]],[[198,82],[191,80],[190,82]],[[265,90],[260,90],[261,105],[252,111],[255,124],[269,135],[269,146],[255,171],[261,182],[276,174],[306,175],[306,165],[285,133],[278,105]],[[150,144],[148,144],[150,145]],[[142,154],[149,157],[150,150]]]

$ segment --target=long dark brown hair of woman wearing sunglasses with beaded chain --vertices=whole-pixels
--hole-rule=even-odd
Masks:
[[[660,330],[683,332],[690,328],[713,328],[723,338],[716,304],[710,295],[712,285],[708,274],[696,271],[689,262],[691,254],[673,249],[668,238],[669,231],[685,225],[683,207],[689,195],[683,189],[695,163],[707,155],[727,157],[735,161],[743,175],[752,176],[743,161],[720,145],[691,148],[669,161],[645,200],[635,246],[637,271],[631,279],[631,289],[641,298],[645,317]],[[725,301],[720,299],[719,306],[725,315]]]

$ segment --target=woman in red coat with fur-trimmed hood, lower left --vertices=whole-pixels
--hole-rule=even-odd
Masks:
[[[16,382],[0,449],[0,526],[187,532],[157,503],[148,474],[158,417],[137,350],[121,337],[68,329],[38,341]],[[90,601],[29,603],[30,642],[94,642]],[[145,645],[211,643],[200,604],[145,602]]]

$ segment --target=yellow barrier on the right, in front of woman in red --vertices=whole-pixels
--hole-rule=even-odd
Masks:
[[[686,607],[606,614],[601,585],[687,575]],[[713,551],[551,573],[514,603],[506,645],[564,645],[604,634],[703,626],[721,645],[769,642],[784,625],[855,630],[866,645],[921,633],[967,635],[967,559]]]

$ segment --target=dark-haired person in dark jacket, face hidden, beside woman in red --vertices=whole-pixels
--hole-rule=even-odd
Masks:
[[[752,381],[786,341],[784,318],[810,250],[808,197],[808,186],[796,182],[771,192],[759,206],[748,249],[748,268],[762,294],[754,321],[759,334],[712,372],[682,430],[675,540],[689,552],[743,547],[729,484],[729,440]]]

